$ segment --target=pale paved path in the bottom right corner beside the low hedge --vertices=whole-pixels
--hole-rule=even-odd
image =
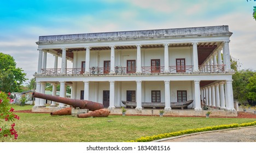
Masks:
[[[256,142],[256,126],[194,133],[161,139],[158,142]]]

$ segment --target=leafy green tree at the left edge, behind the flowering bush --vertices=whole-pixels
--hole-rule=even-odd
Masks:
[[[20,85],[26,81],[26,73],[16,67],[14,58],[0,52],[0,90],[4,92],[20,92]]]

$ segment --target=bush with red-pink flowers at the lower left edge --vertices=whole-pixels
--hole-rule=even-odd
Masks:
[[[8,95],[10,96],[10,93]],[[0,91],[0,138],[2,142],[4,142],[4,139],[8,136],[14,137],[14,139],[18,138],[13,121],[15,119],[19,120],[20,117],[13,113],[14,109],[12,107],[10,108],[10,103],[13,103],[13,99]],[[12,123],[10,124],[9,122]]]

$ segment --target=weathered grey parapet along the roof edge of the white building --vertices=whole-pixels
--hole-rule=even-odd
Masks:
[[[39,36],[37,44],[65,43],[65,42],[97,42],[110,40],[134,40],[154,38],[181,38],[199,36],[231,36],[229,26],[207,26],[190,28],[170,28],[160,30],[119,31],[100,33],[63,34],[53,36]]]

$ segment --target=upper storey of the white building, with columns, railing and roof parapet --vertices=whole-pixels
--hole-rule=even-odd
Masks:
[[[231,72],[231,34],[228,26],[213,26],[40,36],[36,75]],[[54,66],[46,67],[47,54],[55,56]]]

